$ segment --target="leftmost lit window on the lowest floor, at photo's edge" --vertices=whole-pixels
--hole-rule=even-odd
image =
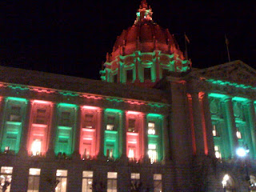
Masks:
[[[11,174],[13,173],[13,167],[11,166],[2,166],[1,175],[0,175],[0,184],[2,190],[5,192],[10,192],[10,183],[11,183]],[[3,190],[5,189],[5,190]]]

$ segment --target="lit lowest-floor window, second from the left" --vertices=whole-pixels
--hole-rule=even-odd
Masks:
[[[29,182],[27,192],[38,192],[40,182],[40,169],[30,168]]]

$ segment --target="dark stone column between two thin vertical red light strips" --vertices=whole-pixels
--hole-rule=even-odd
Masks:
[[[196,142],[196,154],[205,154],[204,138],[202,130],[202,110],[198,98],[198,93],[191,94],[192,96],[192,109],[194,118],[194,135]]]

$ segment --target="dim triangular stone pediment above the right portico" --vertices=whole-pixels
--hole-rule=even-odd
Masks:
[[[192,72],[198,78],[236,82],[238,84],[256,86],[256,70],[242,61],[228,62],[204,70]]]

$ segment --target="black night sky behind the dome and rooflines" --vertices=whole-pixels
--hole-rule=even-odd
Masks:
[[[256,69],[256,1],[148,0],[153,19],[184,50],[190,38],[194,67],[231,60]],[[140,0],[1,1],[0,65],[98,79],[123,29],[132,26]]]

